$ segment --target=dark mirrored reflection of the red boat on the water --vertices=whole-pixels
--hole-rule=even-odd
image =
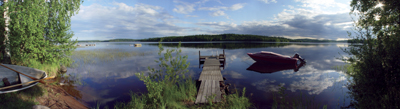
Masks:
[[[247,70],[255,71],[259,73],[274,73],[282,70],[293,69],[294,72],[299,71],[301,67],[305,65],[304,62],[300,64],[281,64],[274,62],[255,62]]]

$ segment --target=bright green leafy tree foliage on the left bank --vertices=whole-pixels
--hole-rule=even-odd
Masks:
[[[12,64],[30,65],[65,64],[71,60],[68,55],[75,49],[76,41],[71,40],[71,17],[77,14],[81,0],[11,0],[2,2],[1,11],[10,17],[10,31],[7,43]],[[5,9],[9,7],[8,11]],[[2,28],[5,19],[0,19]],[[1,29],[3,33],[6,33]],[[7,38],[1,36],[1,40]],[[4,52],[3,52],[4,54]]]

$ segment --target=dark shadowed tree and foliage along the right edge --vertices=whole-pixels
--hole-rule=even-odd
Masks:
[[[352,0],[362,45],[345,49],[352,57],[351,97],[356,108],[400,108],[400,1]]]

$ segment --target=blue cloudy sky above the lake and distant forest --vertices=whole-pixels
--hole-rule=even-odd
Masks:
[[[254,34],[348,39],[350,0],[85,0],[72,39]]]

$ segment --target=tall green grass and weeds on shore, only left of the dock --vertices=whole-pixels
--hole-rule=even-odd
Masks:
[[[131,101],[128,103],[117,103],[115,109],[147,109],[147,108],[186,108],[186,104],[194,102],[197,94],[194,81],[187,80],[177,85],[165,85],[160,83],[162,92],[158,96],[155,93],[147,93],[139,96],[131,92]],[[155,104],[158,102],[160,104]]]

